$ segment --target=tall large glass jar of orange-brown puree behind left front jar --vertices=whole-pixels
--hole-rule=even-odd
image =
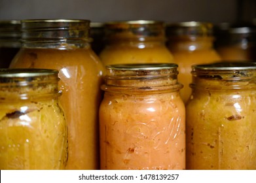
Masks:
[[[89,20],[22,20],[12,68],[58,69],[68,125],[67,169],[98,169],[98,108],[103,65],[90,48]]]

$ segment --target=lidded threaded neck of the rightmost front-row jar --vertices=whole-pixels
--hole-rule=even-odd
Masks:
[[[192,65],[191,87],[215,90],[256,88],[256,63],[226,62]]]

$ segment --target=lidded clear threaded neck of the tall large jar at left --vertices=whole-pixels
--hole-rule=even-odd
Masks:
[[[22,47],[84,48],[89,45],[90,20],[22,20]]]

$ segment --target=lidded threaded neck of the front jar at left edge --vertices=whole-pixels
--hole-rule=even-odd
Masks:
[[[0,101],[58,97],[58,70],[0,69]]]

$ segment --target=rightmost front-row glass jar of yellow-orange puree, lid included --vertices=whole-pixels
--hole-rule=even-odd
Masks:
[[[187,169],[256,169],[256,63],[192,67]]]

